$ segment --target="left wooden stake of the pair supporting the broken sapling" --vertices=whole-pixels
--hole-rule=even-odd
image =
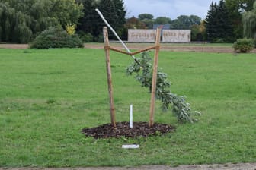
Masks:
[[[116,118],[115,118],[115,109],[114,109],[114,97],[113,97],[113,87],[112,87],[112,76],[111,76],[111,65],[110,65],[110,49],[109,49],[109,40],[107,27],[103,28],[104,35],[104,46],[105,46],[105,55],[106,55],[106,67],[107,67],[107,85],[108,93],[110,98],[110,118],[111,124],[116,128]]]

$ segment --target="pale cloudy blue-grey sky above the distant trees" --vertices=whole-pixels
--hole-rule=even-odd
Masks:
[[[138,17],[139,14],[152,14],[156,17],[176,19],[180,15],[197,15],[205,19],[212,2],[219,0],[123,0],[126,17]]]

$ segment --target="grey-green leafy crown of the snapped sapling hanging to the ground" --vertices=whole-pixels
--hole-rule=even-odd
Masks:
[[[148,52],[142,53],[142,57],[138,58],[139,64],[134,61],[132,65],[126,68],[126,74],[132,75],[136,73],[136,80],[138,80],[142,87],[148,87],[151,92],[152,87],[152,58],[150,58]],[[185,96],[178,96],[171,93],[169,90],[171,83],[167,80],[167,74],[158,71],[156,81],[156,99],[162,102],[162,109],[166,111],[172,106],[172,112],[181,122],[193,123],[195,120],[191,117],[192,112],[190,104],[186,102]]]

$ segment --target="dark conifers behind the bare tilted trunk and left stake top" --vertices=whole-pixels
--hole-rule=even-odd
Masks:
[[[126,23],[126,10],[124,9],[123,0],[77,0],[85,6],[84,16],[79,20],[77,30],[80,33],[90,33],[94,36],[94,41],[102,40],[102,27],[104,22],[98,16],[95,8],[98,8],[104,15],[108,23],[117,31],[119,36],[126,34],[124,24]],[[115,36],[110,32],[110,39]]]

